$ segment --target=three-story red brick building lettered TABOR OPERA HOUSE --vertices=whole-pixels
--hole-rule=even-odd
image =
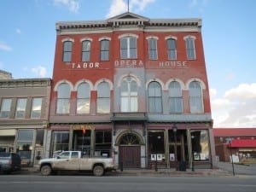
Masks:
[[[201,20],[56,23],[46,155],[83,150],[124,167],[212,167]]]

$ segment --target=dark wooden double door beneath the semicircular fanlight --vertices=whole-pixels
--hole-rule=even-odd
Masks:
[[[141,168],[141,146],[119,146],[119,167]]]

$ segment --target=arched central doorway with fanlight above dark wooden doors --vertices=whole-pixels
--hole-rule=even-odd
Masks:
[[[141,144],[142,139],[134,132],[125,132],[118,139],[119,167],[141,167]]]

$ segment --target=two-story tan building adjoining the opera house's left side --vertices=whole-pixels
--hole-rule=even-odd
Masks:
[[[0,79],[0,151],[33,165],[44,155],[50,79]]]

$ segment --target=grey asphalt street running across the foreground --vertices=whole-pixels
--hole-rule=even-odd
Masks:
[[[0,176],[1,192],[255,192],[255,177]]]

